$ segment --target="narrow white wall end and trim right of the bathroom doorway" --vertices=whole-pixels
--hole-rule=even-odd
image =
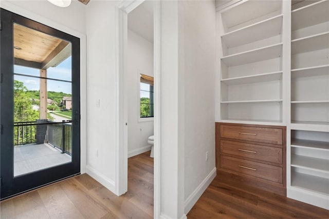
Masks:
[[[160,3],[160,75],[158,104],[160,157],[160,216],[184,217],[184,145],[178,133],[182,116],[179,94],[179,21],[178,2]],[[157,103],[155,103],[157,105]],[[157,136],[155,136],[157,137]],[[158,147],[158,148],[157,148]]]

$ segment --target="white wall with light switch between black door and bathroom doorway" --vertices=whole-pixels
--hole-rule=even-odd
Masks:
[[[118,119],[115,4],[115,1],[90,1],[86,9],[87,173],[113,192]]]

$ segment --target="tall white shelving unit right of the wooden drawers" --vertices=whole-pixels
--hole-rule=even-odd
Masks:
[[[287,196],[326,209],[329,209],[328,54],[329,1],[299,1],[292,5]]]

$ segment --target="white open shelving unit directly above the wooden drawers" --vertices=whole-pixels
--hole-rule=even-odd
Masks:
[[[217,18],[217,122],[282,125],[282,1],[241,1]]]

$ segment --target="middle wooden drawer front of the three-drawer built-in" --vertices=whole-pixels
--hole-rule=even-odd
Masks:
[[[282,148],[222,140],[221,152],[282,164]]]

